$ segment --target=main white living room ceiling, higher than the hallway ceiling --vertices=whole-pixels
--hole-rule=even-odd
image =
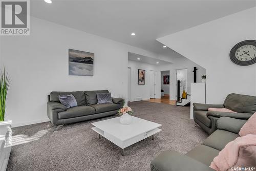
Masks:
[[[256,6],[246,0],[52,1],[32,0],[31,15],[167,56],[176,52],[156,38]]]

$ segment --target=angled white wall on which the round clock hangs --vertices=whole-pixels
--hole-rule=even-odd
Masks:
[[[255,7],[157,40],[204,67],[206,102],[223,103],[229,93],[256,95],[256,64],[238,66],[229,58],[247,39],[256,39]]]

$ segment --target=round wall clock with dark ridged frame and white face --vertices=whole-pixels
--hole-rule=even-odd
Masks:
[[[235,45],[230,53],[232,62],[240,66],[256,63],[256,40],[245,40]]]

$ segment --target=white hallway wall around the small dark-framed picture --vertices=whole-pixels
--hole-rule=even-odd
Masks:
[[[139,61],[128,60],[128,67],[131,68],[131,101],[150,99],[150,71],[157,71],[157,66]],[[145,84],[138,84],[138,69],[145,70]],[[156,81],[160,78],[160,72],[156,72]],[[160,82],[156,83],[156,98],[160,98]]]

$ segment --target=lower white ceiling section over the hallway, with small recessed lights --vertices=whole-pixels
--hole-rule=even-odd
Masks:
[[[140,58],[138,60],[138,58]],[[165,60],[160,60],[160,59],[156,59],[156,58],[152,58],[152,57],[147,57],[147,56],[143,56],[143,55],[139,55],[136,53],[131,53],[128,52],[128,60],[134,60],[134,61],[139,61],[139,62],[143,62],[143,63],[149,63],[151,65],[163,65],[163,64],[168,64],[168,63],[172,63],[172,62],[168,62]],[[159,62],[159,63],[157,63]]]

